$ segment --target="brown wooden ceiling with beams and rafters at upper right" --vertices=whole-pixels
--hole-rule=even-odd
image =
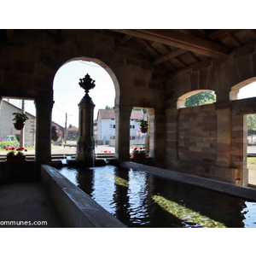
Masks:
[[[173,73],[256,44],[253,29],[115,29],[122,44],[132,44],[153,67]]]

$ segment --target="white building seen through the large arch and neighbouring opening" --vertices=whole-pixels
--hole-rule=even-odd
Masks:
[[[143,110],[132,110],[131,111],[131,122],[130,122],[130,139],[135,140],[142,137],[143,134],[140,132],[140,127],[137,123],[138,119],[143,119]],[[114,140],[115,136],[115,115],[113,109],[99,109],[97,115],[97,131],[96,131],[96,143],[97,144],[108,144],[110,140]]]

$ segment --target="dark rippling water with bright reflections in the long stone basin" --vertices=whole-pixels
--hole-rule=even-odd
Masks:
[[[256,227],[256,203],[230,195],[121,166],[59,172],[128,227]]]

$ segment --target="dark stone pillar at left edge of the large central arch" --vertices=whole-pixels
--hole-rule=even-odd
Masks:
[[[36,147],[35,159],[39,164],[51,160],[51,111],[53,101],[47,102],[36,99]]]

